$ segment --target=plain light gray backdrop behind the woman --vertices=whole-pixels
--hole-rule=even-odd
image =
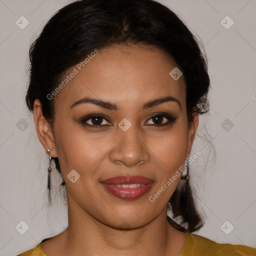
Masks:
[[[24,94],[29,44],[48,18],[69,2],[0,0],[0,255],[30,249],[67,225],[58,176],[54,205],[48,208],[46,203],[48,157]],[[200,116],[191,152],[202,152],[190,167],[198,208],[205,216],[205,225],[195,233],[216,242],[256,247],[256,1],[161,2],[199,36],[208,57],[210,113]],[[29,21],[24,29],[15,23],[22,15]],[[234,21],[228,29],[223,26],[231,24],[223,19],[227,15]],[[200,138],[207,131],[210,143]],[[29,226],[24,234],[15,228],[22,220]]]

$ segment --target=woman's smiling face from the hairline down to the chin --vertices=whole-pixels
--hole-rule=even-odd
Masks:
[[[190,153],[198,116],[188,126],[184,77],[173,79],[175,62],[143,44],[101,49],[83,65],[67,72],[73,77],[54,96],[48,145],[60,162],[69,209],[110,226],[142,226],[166,215],[180,176],[167,181]],[[108,103],[77,102],[85,97]],[[175,99],[157,101],[165,97]],[[121,185],[128,183],[137,185]]]

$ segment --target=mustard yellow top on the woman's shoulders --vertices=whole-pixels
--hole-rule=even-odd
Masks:
[[[51,236],[52,237],[52,236]],[[47,256],[43,253],[40,244],[51,238],[44,238],[33,249],[27,250],[17,256]],[[255,256],[256,248],[230,243],[217,243],[203,236],[186,232],[186,240],[179,256]]]

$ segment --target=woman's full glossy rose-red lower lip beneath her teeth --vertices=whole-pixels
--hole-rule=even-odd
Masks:
[[[150,182],[148,184],[145,184],[144,186],[139,186],[136,188],[123,188],[118,187],[116,185],[101,183],[107,191],[112,193],[114,196],[120,199],[126,199],[126,200],[134,200],[142,195],[144,195],[150,188],[153,182]]]

